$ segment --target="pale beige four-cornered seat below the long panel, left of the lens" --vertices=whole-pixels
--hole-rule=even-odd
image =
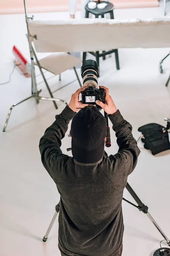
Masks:
[[[60,52],[48,55],[47,57],[40,59],[39,62],[43,69],[53,73],[54,75],[59,75],[65,70],[80,64],[82,60],[66,52]],[[35,64],[37,65],[36,62]]]

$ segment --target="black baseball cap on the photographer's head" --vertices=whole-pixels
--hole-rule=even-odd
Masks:
[[[106,120],[96,107],[82,108],[71,122],[71,150],[80,163],[96,163],[103,154]]]

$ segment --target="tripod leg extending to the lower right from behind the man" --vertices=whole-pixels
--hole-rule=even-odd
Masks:
[[[161,228],[159,227],[159,225],[156,223],[156,221],[153,219],[153,217],[150,215],[150,213],[148,212],[148,207],[146,205],[144,205],[144,203],[142,203],[142,201],[139,199],[139,197],[136,195],[136,193],[134,192],[134,190],[131,188],[131,186],[127,183],[126,185],[126,189],[127,191],[130,193],[130,195],[133,197],[133,199],[136,201],[136,203],[138,204],[138,209],[140,212],[145,213],[148,218],[150,218],[150,220],[153,222],[153,224],[155,225],[155,227],[159,230],[159,232],[161,233],[161,235],[164,237],[164,239],[167,241],[167,244],[170,246],[170,240],[167,238],[167,236],[165,235],[165,233],[161,230]],[[123,198],[123,200],[125,200]],[[129,201],[125,200],[127,203],[130,203]],[[130,203],[132,204],[132,203]],[[133,205],[133,204],[132,204]],[[135,205],[133,205],[135,206]],[[135,206],[136,207],[136,206]]]

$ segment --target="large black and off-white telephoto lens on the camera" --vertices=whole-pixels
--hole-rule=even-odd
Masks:
[[[83,85],[98,88],[99,67],[94,60],[87,60],[81,67]]]

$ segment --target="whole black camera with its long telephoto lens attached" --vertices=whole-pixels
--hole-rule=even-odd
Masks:
[[[81,67],[81,76],[83,85],[88,85],[82,92],[82,103],[96,105],[96,100],[105,103],[105,90],[98,87],[99,67],[96,61],[86,60]]]

